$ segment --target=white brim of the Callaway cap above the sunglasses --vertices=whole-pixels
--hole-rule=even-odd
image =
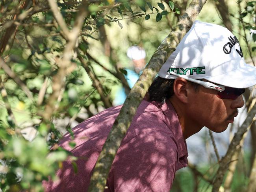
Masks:
[[[230,72],[204,79],[227,87],[252,87],[256,85],[256,67],[245,64]]]

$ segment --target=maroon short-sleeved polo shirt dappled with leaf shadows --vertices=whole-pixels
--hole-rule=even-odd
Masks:
[[[66,133],[59,145],[74,156],[78,171],[70,161],[58,170],[60,180],[44,182],[46,192],[85,192],[102,146],[119,114],[121,106],[111,107],[78,124],[72,129],[72,140]],[[106,192],[168,191],[175,172],[187,166],[187,146],[178,116],[167,100],[162,107],[143,100],[121,142],[111,170]]]

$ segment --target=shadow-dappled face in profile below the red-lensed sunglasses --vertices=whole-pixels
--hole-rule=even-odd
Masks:
[[[192,86],[191,86],[192,87]],[[243,107],[242,95],[236,100],[221,99],[218,91],[198,86],[198,91],[189,89],[187,114],[193,123],[198,126],[206,126],[214,132],[223,132],[228,124],[234,122],[238,114],[238,108]]]

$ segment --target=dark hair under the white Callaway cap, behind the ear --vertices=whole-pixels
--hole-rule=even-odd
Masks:
[[[166,99],[171,98],[173,96],[173,83],[175,79],[164,79],[159,76],[156,77],[153,83],[148,88],[149,100],[156,101],[160,103],[160,106],[163,105]],[[198,79],[201,80],[201,79]],[[198,91],[198,84],[189,82],[195,88],[195,91]]]

